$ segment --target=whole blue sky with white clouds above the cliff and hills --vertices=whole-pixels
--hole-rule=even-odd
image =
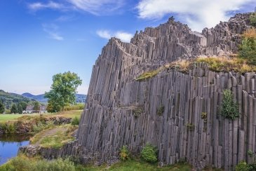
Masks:
[[[86,94],[93,64],[111,36],[130,41],[136,30],[156,27],[171,15],[201,32],[252,0],[1,0],[0,89],[45,93],[52,76],[73,71]]]

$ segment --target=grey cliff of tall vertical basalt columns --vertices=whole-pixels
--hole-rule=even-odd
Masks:
[[[236,53],[240,34],[249,28],[248,16],[237,14],[201,34],[170,18],[136,33],[130,43],[112,38],[93,67],[76,141],[41,154],[105,163],[118,159],[123,145],[136,154],[149,142],[165,164],[185,158],[198,168],[231,169],[240,160],[250,162],[255,157],[248,151],[256,151],[255,74],[217,73],[198,64],[189,74],[166,69],[135,81],[144,71],[179,58]],[[219,114],[226,88],[239,102],[241,117],[234,121]],[[163,114],[157,114],[159,107]]]

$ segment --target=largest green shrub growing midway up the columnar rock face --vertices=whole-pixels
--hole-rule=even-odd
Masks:
[[[238,103],[234,101],[233,94],[231,90],[224,90],[223,91],[223,101],[222,101],[222,108],[220,110],[220,114],[224,118],[229,118],[229,119],[236,119],[239,117],[239,112],[238,112]]]

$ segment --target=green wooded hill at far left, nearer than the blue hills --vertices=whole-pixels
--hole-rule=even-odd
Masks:
[[[0,101],[4,102],[6,109],[10,109],[11,105],[18,104],[19,102],[31,102],[32,99],[18,95],[15,93],[7,93],[4,90],[0,90]]]

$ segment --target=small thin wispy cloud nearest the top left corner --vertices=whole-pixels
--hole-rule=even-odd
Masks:
[[[44,8],[51,8],[51,9],[62,9],[65,8],[65,6],[63,6],[62,4],[58,4],[56,2],[53,1],[48,1],[48,3],[43,4],[41,2],[35,2],[32,4],[28,5],[29,9],[33,10],[33,11],[39,11],[41,9]]]

